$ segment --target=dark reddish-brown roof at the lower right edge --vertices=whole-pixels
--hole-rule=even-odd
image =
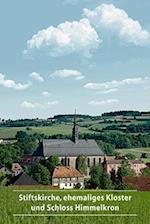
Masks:
[[[150,178],[147,177],[123,177],[124,184],[138,191],[150,191]]]

